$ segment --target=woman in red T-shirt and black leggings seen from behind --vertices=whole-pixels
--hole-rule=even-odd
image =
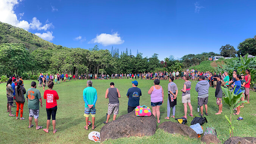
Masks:
[[[49,132],[49,126],[51,121],[51,115],[52,115],[52,125],[53,125],[53,133],[56,133],[57,130],[55,129],[56,126],[56,112],[57,112],[57,101],[59,99],[58,93],[55,90],[52,90],[53,88],[53,81],[48,82],[48,90],[44,91],[44,99],[46,99],[46,112],[47,112],[47,123],[46,123],[46,129],[44,129],[45,132]]]

